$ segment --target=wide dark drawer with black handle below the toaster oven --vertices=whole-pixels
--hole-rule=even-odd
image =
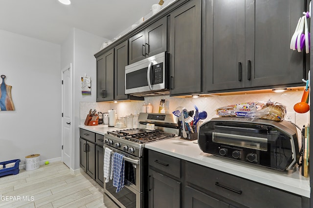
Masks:
[[[224,172],[186,162],[186,181],[226,198],[253,208],[301,208],[301,197],[245,180]]]

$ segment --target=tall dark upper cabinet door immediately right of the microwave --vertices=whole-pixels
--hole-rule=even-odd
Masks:
[[[170,94],[201,92],[201,0],[170,14]]]

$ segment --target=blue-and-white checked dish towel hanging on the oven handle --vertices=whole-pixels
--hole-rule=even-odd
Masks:
[[[116,187],[116,192],[124,187],[125,180],[125,161],[124,154],[115,152],[113,155],[113,187]]]

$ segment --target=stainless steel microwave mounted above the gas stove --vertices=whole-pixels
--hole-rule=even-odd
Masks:
[[[125,94],[156,96],[169,94],[169,54],[162,52],[125,67]]]

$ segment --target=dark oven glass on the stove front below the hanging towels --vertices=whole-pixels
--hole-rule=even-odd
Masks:
[[[126,208],[136,208],[136,194],[126,187],[116,193],[116,187],[113,187],[113,180],[110,180],[105,184],[105,189],[106,192],[110,192]]]

